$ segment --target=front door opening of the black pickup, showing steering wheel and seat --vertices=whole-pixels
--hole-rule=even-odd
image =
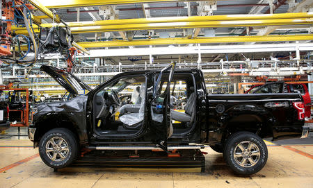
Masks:
[[[94,130],[100,137],[132,137],[143,129],[146,77],[124,76],[99,89],[94,99]]]

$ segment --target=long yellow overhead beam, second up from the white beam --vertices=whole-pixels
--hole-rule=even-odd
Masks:
[[[299,13],[281,13],[281,14],[266,14],[266,15],[214,15],[214,16],[192,16],[192,17],[153,17],[153,18],[138,18],[138,19],[113,19],[113,20],[99,20],[91,22],[67,22],[70,27],[84,27],[84,26],[109,26],[109,25],[126,25],[126,24],[159,24],[171,22],[212,22],[212,21],[239,21],[243,23],[248,20],[255,22],[260,19],[292,19],[293,22],[298,22],[297,19],[312,19],[313,13],[299,12]],[[221,22],[223,24],[223,22]],[[51,28],[52,26],[64,26],[64,24],[41,24],[43,28]],[[38,26],[34,26],[38,28]],[[24,30],[25,28],[13,28],[14,30]]]

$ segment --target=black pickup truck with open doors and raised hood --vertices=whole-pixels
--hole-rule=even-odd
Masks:
[[[209,95],[198,69],[131,71],[90,89],[63,69],[42,65],[72,99],[35,107],[29,139],[54,169],[89,150],[194,150],[209,145],[236,173],[266,164],[262,138],[307,137],[300,94]],[[85,94],[89,91],[88,94]],[[171,99],[184,98],[184,111]],[[182,111],[182,110],[180,110]]]

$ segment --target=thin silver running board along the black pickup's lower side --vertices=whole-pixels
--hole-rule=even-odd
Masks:
[[[89,146],[89,149],[95,150],[159,150],[157,146]],[[202,149],[203,145],[185,145],[185,146],[168,146],[168,150],[185,150],[185,149]]]

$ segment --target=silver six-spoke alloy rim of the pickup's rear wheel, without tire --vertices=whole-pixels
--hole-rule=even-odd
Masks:
[[[250,141],[240,142],[234,148],[234,160],[243,167],[251,167],[257,164],[260,155],[259,147]]]

